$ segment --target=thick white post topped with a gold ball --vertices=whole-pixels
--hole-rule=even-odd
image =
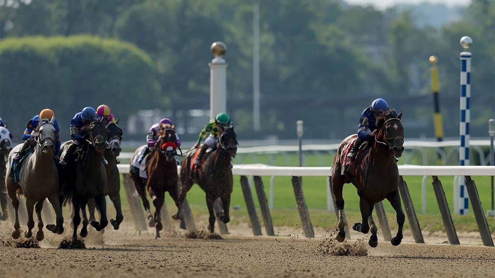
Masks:
[[[220,112],[227,112],[227,62],[223,55],[227,46],[222,42],[214,42],[210,47],[213,58],[210,67],[210,119]]]

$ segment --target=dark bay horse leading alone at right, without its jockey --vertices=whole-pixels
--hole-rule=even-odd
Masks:
[[[402,111],[397,116],[395,110],[383,113],[376,119],[377,130],[371,135],[375,137],[365,149],[355,158],[355,178],[342,175],[341,155],[343,150],[357,135],[351,135],[344,139],[335,155],[332,167],[332,191],[335,194],[337,208],[339,210],[339,233],[337,240],[342,242],[346,237],[344,231],[345,220],[343,216],[344,198],[342,189],[344,184],[352,183],[357,188],[359,195],[359,208],[361,210],[362,223],[355,223],[352,227],[355,231],[368,233],[371,237],[368,241],[371,247],[376,247],[378,238],[377,226],[372,217],[375,203],[385,198],[389,200],[396,210],[398,231],[391,240],[393,245],[399,245],[402,240],[402,226],[404,225],[404,213],[400,205],[398,192],[399,172],[395,158],[400,157],[404,150],[404,129],[400,123]]]

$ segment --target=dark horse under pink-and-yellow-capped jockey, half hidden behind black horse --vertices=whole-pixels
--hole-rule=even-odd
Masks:
[[[106,169],[106,189],[105,196],[109,196],[117,213],[115,220],[110,219],[113,229],[118,230],[120,223],[124,219],[120,203],[120,174],[117,168],[116,159],[120,155],[120,142],[122,141],[122,130],[118,126],[119,120],[116,123],[106,125],[106,140],[108,147],[105,149],[104,158],[108,162]],[[90,221],[95,221],[95,200],[88,201],[88,211],[90,213]]]

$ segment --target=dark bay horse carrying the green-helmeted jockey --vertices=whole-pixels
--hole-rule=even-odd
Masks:
[[[189,152],[186,158],[182,160],[180,203],[182,204],[184,201],[189,189],[194,184],[198,184],[206,193],[206,205],[210,215],[208,230],[210,232],[213,232],[215,228],[213,204],[216,199],[220,198],[223,203],[223,215],[220,216],[220,221],[223,223],[230,221],[230,195],[234,185],[230,159],[236,156],[237,145],[237,135],[234,126],[232,126],[223,130],[217,148],[209,156],[204,156],[204,163],[198,171],[192,171],[192,169],[199,150]]]

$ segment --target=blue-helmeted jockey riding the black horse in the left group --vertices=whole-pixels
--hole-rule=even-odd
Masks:
[[[96,110],[93,107],[84,107],[81,112],[74,115],[74,118],[72,118],[70,122],[70,137],[72,138],[72,144],[69,145],[60,158],[60,166],[62,166],[62,168],[67,165],[67,160],[69,160],[69,157],[72,156],[76,148],[84,144],[91,122],[98,119],[99,116],[96,114]]]

